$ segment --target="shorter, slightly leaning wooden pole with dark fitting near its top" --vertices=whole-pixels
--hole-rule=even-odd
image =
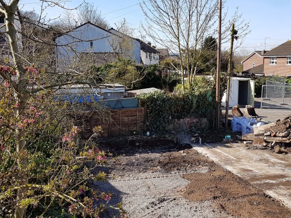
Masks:
[[[237,34],[237,31],[234,31],[234,24],[232,24],[231,25],[230,51],[229,51],[229,58],[228,58],[228,79],[227,79],[226,100],[225,100],[224,130],[227,130],[227,125],[228,125],[228,108],[229,108],[229,94],[230,94],[230,80],[231,80],[232,48],[233,48],[233,38],[234,38],[234,35],[236,35],[236,34]]]

